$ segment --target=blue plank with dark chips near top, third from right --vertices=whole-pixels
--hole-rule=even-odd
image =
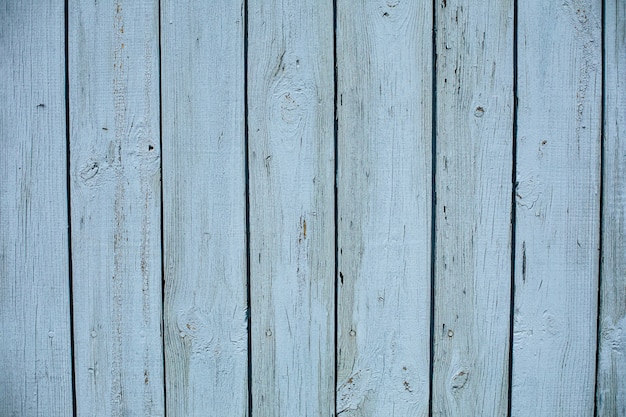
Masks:
[[[439,0],[433,415],[508,409],[513,2]]]

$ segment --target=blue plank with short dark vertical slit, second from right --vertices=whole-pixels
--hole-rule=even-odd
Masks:
[[[518,8],[512,415],[592,416],[601,6]]]

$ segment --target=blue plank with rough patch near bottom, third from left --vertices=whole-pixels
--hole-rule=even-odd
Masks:
[[[245,416],[243,4],[161,7],[168,415]]]

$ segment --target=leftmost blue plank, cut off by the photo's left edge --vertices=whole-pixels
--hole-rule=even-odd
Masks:
[[[0,415],[71,416],[63,3],[0,7]]]

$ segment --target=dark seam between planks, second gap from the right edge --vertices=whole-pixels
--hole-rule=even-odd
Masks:
[[[515,251],[517,193],[517,0],[513,0],[513,143],[511,146],[511,281],[509,295],[509,375],[507,416],[511,417],[513,398],[513,342],[515,326]]]

